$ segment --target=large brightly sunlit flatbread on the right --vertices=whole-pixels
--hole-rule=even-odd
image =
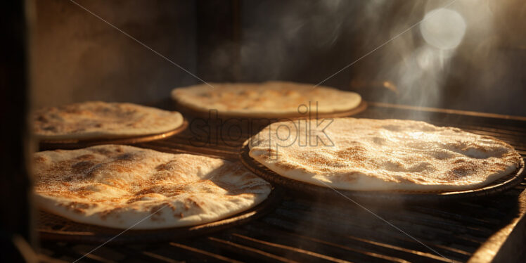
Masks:
[[[479,188],[521,162],[512,146],[491,136],[411,120],[354,118],[276,122],[252,137],[249,154],[283,177],[354,191]]]

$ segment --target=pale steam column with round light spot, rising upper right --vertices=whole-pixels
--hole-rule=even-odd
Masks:
[[[395,53],[402,54],[402,57],[398,60],[390,58],[394,66],[391,64],[380,70],[380,77],[389,79],[399,91],[386,96],[397,96],[395,101],[404,104],[441,106],[451,58],[454,58],[467,29],[463,15],[452,8],[423,8],[428,10],[419,27],[413,30],[415,32],[400,37],[395,40],[396,44],[387,47],[385,56]]]

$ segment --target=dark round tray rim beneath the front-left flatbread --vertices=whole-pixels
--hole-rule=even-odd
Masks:
[[[240,212],[226,219],[200,224],[198,226],[182,226],[169,229],[133,230],[111,229],[103,226],[82,224],[60,217],[49,212],[39,211],[37,231],[41,240],[68,241],[76,243],[104,243],[111,239],[112,243],[144,243],[166,240],[177,240],[199,236],[214,231],[245,224],[252,219],[261,217],[274,210],[283,198],[283,188],[274,187],[262,203],[250,210]],[[112,239],[113,238],[113,239]]]

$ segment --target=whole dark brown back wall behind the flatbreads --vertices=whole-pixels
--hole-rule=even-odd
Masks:
[[[79,0],[206,81],[312,84],[447,3]],[[449,8],[467,27],[442,62],[416,26],[323,84],[369,101],[526,115],[526,2],[460,0]],[[35,35],[37,107],[94,99],[150,103],[199,82],[69,1],[37,1]],[[423,68],[428,59],[431,68]]]

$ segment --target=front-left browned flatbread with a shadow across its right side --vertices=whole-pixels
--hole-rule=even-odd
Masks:
[[[238,163],[117,145],[35,153],[34,179],[41,210],[117,229],[213,222],[271,191]]]

